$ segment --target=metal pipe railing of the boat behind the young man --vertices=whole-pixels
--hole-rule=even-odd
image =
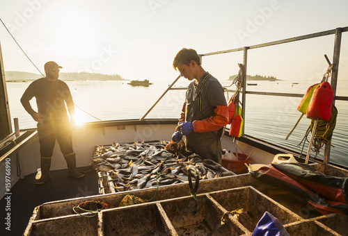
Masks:
[[[348,26],[344,28],[335,28],[329,31],[322,31],[318,33],[311,33],[308,35],[301,35],[298,37],[290,37],[285,40],[277,40],[274,42],[267,42],[263,44],[256,44],[253,46],[248,46],[248,47],[239,47],[237,49],[229,49],[225,51],[216,51],[212,53],[203,53],[200,54],[200,57],[203,58],[205,56],[214,56],[218,54],[223,54],[223,53],[235,53],[239,51],[243,51],[243,65],[244,65],[244,78],[243,78],[243,85],[242,85],[242,117],[245,117],[245,103],[246,101],[246,94],[257,94],[257,95],[267,95],[267,96],[287,96],[287,97],[302,97],[303,94],[293,94],[293,93],[280,93],[280,92],[254,92],[254,91],[248,91],[246,90],[246,71],[247,71],[247,65],[248,65],[248,50],[251,49],[260,49],[262,47],[271,47],[274,45],[278,44],[285,44],[289,42],[297,42],[301,40],[309,40],[313,39],[315,37],[323,37],[326,35],[335,35],[335,42],[334,42],[334,48],[333,48],[333,60],[332,60],[332,72],[331,72],[331,87],[333,89],[333,105],[335,105],[336,100],[341,100],[341,101],[348,101],[348,96],[336,96],[336,88],[337,88],[337,80],[338,80],[338,66],[339,66],[339,59],[340,59],[340,48],[341,48],[341,38],[342,38],[342,33],[348,31]],[[141,117],[141,120],[145,119],[145,117],[151,112],[153,108],[159,103],[159,101],[164,97],[164,95],[169,91],[169,90],[187,90],[187,87],[173,87],[175,83],[178,81],[180,76],[177,76],[175,81],[164,91],[163,94],[157,99],[157,101],[151,106],[151,108],[145,112],[145,115]],[[235,90],[228,90],[226,88],[225,92],[235,92]],[[244,120],[245,124],[245,120]],[[244,135],[244,124],[243,124],[243,129],[242,129],[242,135]],[[325,146],[325,151],[324,151],[324,163],[329,163],[329,156],[330,156],[330,145],[326,144]]]

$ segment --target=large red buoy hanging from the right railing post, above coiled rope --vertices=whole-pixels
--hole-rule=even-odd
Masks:
[[[323,119],[329,121],[333,90],[329,82],[321,83],[313,92],[312,99],[308,105],[306,117],[310,119]]]

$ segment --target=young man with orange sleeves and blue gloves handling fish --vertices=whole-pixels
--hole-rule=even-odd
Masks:
[[[200,56],[193,49],[182,49],[174,58],[173,67],[192,81],[186,92],[172,140],[186,135],[187,149],[221,164],[221,135],[228,124],[228,107],[219,81],[205,71]]]

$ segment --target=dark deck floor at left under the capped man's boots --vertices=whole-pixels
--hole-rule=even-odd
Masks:
[[[79,167],[78,171],[84,171],[89,167]],[[1,224],[0,235],[22,235],[33,214],[36,206],[49,201],[72,199],[81,196],[99,194],[98,177],[95,171],[85,172],[85,177],[81,180],[68,178],[68,169],[50,171],[51,179],[44,185],[34,185],[35,174],[29,174],[11,188],[10,213],[11,230],[10,232]],[[23,196],[25,194],[25,196]],[[0,205],[6,205],[5,195],[0,201]],[[6,215],[5,207],[1,208],[2,216]],[[4,217],[1,217],[4,221]]]

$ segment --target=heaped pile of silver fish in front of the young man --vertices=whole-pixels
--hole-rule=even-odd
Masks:
[[[144,189],[188,181],[188,171],[200,180],[222,176],[226,169],[212,160],[202,160],[189,151],[170,153],[168,142],[141,142],[96,146],[90,165],[106,171],[115,188]]]

